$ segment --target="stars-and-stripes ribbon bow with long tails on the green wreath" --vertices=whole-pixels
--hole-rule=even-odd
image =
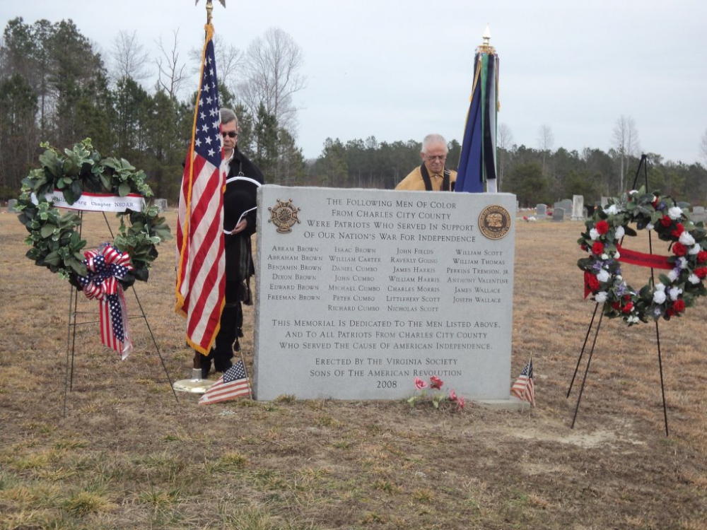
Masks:
[[[127,358],[132,352],[132,341],[123,288],[118,280],[132,271],[130,257],[108,243],[83,255],[88,274],[79,276],[78,281],[86,298],[100,302],[100,341],[123,359]]]

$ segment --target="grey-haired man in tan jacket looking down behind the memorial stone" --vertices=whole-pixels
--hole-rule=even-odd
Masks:
[[[453,192],[457,172],[445,169],[447,141],[440,134],[428,134],[422,141],[422,164],[402,179],[395,189],[414,192]]]

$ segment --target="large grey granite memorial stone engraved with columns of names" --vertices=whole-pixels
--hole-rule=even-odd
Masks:
[[[515,196],[258,190],[256,399],[509,399]]]

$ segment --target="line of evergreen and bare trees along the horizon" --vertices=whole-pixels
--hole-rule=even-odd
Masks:
[[[153,65],[157,81],[148,92],[141,81],[149,76],[150,61],[135,33],[119,33],[110,57],[103,57],[71,20],[10,20],[0,42],[0,200],[18,196],[21,180],[38,165],[40,142],[64,149],[90,137],[103,156],[125,158],[144,170],[155,196],[175,204],[196,90],[180,98],[187,63],[179,59],[178,32],[173,37],[172,47],[160,38],[162,56]],[[198,66],[200,54],[190,53],[189,64]],[[243,52],[219,41],[216,60],[221,105],[238,115],[238,146],[267,184],[392,189],[420,165],[421,141],[379,142],[373,134],[327,138],[317,158],[305,159],[296,142],[293,102],[306,88],[303,54],[283,30],[270,28]],[[568,151],[554,148],[547,124],[539,126],[537,147],[513,143],[510,128],[500,124],[499,191],[515,194],[523,207],[573,195],[591,205],[621,194],[633,183],[641,158],[638,130],[633,118],[622,115],[610,133],[608,151]],[[452,139],[448,147],[447,165],[456,169],[460,143]],[[707,160],[707,132],[701,151]],[[648,191],[707,206],[704,165],[645,155]]]

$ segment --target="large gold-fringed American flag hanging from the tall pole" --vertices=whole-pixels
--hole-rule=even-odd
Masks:
[[[177,225],[175,311],[187,317],[187,343],[204,355],[211,350],[218,332],[226,288],[222,230],[226,184],[220,170],[221,116],[213,36],[214,27],[209,24]]]

